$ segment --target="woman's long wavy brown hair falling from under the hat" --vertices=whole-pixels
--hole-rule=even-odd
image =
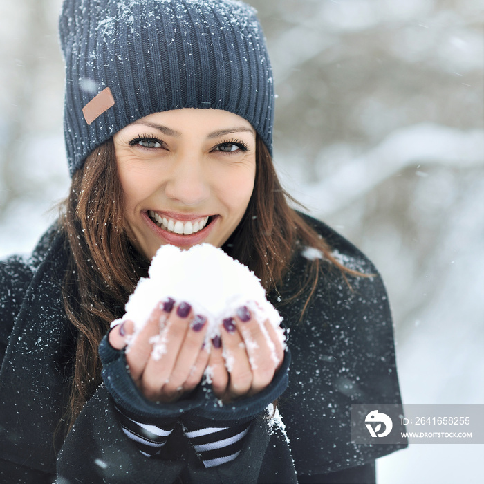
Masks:
[[[225,250],[253,270],[268,293],[283,279],[297,244],[319,249],[343,275],[353,273],[335,260],[326,241],[288,205],[288,200],[293,199],[282,189],[266,145],[260,138],[256,145],[254,191]],[[69,254],[63,282],[64,306],[75,344],[64,416],[67,431],[101,382],[97,348],[102,337],[111,321],[124,313],[124,304],[140,277],[147,275],[149,261],[129,241],[123,207],[110,139],[95,149],[74,174],[60,216]],[[320,264],[319,259],[308,261],[306,286],[297,292],[307,293],[304,308],[317,286]]]

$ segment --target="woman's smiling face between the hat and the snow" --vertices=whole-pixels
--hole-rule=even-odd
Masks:
[[[241,221],[255,180],[256,133],[216,109],[153,113],[113,137],[133,244],[221,247]]]

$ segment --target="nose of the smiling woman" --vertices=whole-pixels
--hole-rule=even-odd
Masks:
[[[183,205],[199,205],[210,196],[210,184],[203,157],[180,153],[165,185],[165,195]]]

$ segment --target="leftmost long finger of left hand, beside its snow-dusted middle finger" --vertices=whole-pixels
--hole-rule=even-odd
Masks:
[[[151,355],[153,337],[160,333],[160,327],[165,324],[167,317],[173,309],[174,300],[169,298],[156,306],[151,312],[147,324],[140,333],[129,343],[126,351],[126,360],[133,380],[140,386],[140,379]]]

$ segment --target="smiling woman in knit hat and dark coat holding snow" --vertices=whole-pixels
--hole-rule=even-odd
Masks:
[[[399,447],[351,444],[350,411],[400,403],[387,297],[353,245],[288,206],[254,10],[66,0],[59,30],[73,181],[32,257],[1,264],[0,476],[374,482]],[[275,359],[245,307],[205,346],[188,301],[160,301],[129,351],[132,322],[109,331],[160,245],[202,242],[261,279],[288,331],[286,351],[269,333]]]

